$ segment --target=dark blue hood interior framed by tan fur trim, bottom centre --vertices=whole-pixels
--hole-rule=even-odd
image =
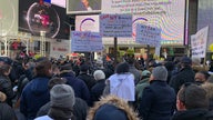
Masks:
[[[128,120],[128,117],[123,110],[105,103],[97,110],[93,120]]]

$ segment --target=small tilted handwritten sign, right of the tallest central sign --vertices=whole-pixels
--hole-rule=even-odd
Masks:
[[[159,47],[161,46],[161,29],[144,24],[136,24],[135,41],[141,44]]]

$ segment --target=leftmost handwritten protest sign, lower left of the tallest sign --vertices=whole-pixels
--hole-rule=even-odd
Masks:
[[[101,51],[102,39],[98,32],[71,32],[71,51]]]

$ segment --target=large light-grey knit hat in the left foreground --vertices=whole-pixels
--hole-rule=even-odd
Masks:
[[[58,108],[72,108],[75,102],[74,91],[68,84],[55,84],[50,90],[50,106]]]

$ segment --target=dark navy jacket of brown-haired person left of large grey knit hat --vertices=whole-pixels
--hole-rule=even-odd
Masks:
[[[45,77],[36,77],[23,89],[20,99],[20,111],[27,119],[34,119],[38,110],[50,101],[49,79]]]

